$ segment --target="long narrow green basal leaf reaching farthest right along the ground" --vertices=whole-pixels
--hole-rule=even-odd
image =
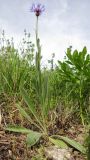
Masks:
[[[62,139],[64,142],[66,142],[70,146],[74,147],[75,149],[77,149],[81,153],[83,153],[83,154],[86,153],[85,147],[83,145],[81,145],[79,142],[76,142],[75,140],[72,140],[72,139],[70,139],[68,137],[64,137],[64,136],[55,135],[55,137]]]

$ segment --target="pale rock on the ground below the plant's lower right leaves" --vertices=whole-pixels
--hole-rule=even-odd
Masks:
[[[70,151],[67,149],[60,149],[56,146],[48,147],[45,149],[45,156],[52,160],[69,160]]]

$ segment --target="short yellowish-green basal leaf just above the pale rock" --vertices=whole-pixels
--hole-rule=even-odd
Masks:
[[[52,142],[52,143],[53,143],[54,145],[56,145],[57,147],[65,148],[65,149],[68,148],[67,144],[66,144],[63,140],[54,139],[54,138],[51,138],[51,137],[49,137],[49,140],[50,140],[50,142]]]

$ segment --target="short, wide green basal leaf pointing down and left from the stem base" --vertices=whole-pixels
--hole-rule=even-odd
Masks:
[[[31,147],[39,141],[41,136],[42,134],[39,132],[31,132],[27,135],[26,142]]]

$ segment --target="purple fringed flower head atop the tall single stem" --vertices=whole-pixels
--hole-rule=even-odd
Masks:
[[[44,11],[45,11],[45,6],[44,5],[32,4],[31,12],[34,12],[37,17],[40,16],[42,14],[42,12],[44,12]]]

